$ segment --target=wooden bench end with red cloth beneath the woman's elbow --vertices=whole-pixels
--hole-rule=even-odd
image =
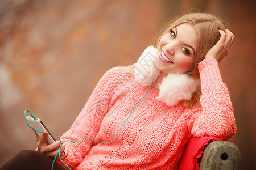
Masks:
[[[240,151],[227,139],[192,137],[181,156],[178,169],[240,169]]]

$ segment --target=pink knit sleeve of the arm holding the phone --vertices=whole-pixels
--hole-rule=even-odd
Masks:
[[[95,139],[105,114],[111,107],[111,100],[118,84],[123,82],[127,72],[124,67],[114,67],[107,71],[97,83],[85,107],[76,118],[71,129],[61,137],[61,141],[72,140],[80,142],[85,138]],[[79,164],[90,150],[93,142],[86,139],[81,143],[64,142],[68,156],[64,162],[70,168]],[[59,163],[63,164],[61,161]],[[63,164],[64,165],[64,164]]]

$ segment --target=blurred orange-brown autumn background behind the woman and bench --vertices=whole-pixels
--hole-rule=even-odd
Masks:
[[[0,1],[0,166],[35,149],[29,109],[61,135],[101,76],[137,61],[172,17],[191,9],[218,15],[236,41],[220,63],[234,106],[241,169],[256,167],[255,1]]]

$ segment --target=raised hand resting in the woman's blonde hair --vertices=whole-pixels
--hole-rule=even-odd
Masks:
[[[214,58],[220,62],[228,55],[230,46],[233,44],[235,36],[231,31],[226,29],[226,33],[222,30],[220,32],[220,40],[207,52],[205,58]]]

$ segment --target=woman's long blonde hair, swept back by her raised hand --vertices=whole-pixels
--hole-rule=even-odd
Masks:
[[[218,30],[222,30],[225,32],[226,23],[224,23],[223,20],[220,18],[217,18],[217,16],[214,16],[212,14],[207,13],[188,13],[185,14],[179,18],[175,18],[174,20],[171,20],[166,27],[164,27],[160,33],[158,33],[158,36],[156,37],[156,43],[155,48],[158,47],[159,41],[161,37],[166,34],[167,32],[170,32],[170,30],[180,24],[188,23],[191,24],[193,27],[195,27],[198,35],[198,50],[195,56],[195,65],[193,67],[192,72],[189,74],[189,76],[192,76],[193,78],[200,78],[200,73],[198,69],[198,65],[201,61],[203,61],[205,54],[208,52],[210,48],[212,48],[213,45],[216,44],[218,40],[220,40],[220,33]],[[185,100],[183,101],[183,105],[187,108],[195,107],[201,97],[201,83],[200,79],[197,84],[197,89],[192,95],[191,100]]]

